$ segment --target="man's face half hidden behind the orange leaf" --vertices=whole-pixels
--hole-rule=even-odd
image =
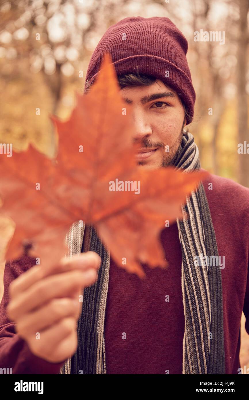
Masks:
[[[137,164],[149,169],[173,164],[185,126],[184,110],[177,94],[161,80],[150,86],[126,86],[120,94],[132,105],[133,140],[139,144]]]

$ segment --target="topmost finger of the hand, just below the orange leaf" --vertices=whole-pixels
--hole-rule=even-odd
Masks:
[[[42,268],[40,265],[35,265],[22,275],[18,276],[9,286],[10,298],[18,296],[30,288],[34,283],[47,276],[58,274],[60,272],[68,272],[73,270],[84,271],[91,267],[98,269],[101,263],[100,256],[95,252],[81,253],[78,257],[62,258],[59,264],[50,269]]]

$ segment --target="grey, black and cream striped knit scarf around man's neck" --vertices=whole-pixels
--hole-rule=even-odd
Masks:
[[[200,169],[193,135],[183,131],[176,168]],[[225,374],[223,302],[219,266],[195,266],[195,256],[219,256],[203,184],[181,206],[188,219],[178,220],[182,265],[181,286],[185,316],[183,374]],[[78,349],[62,366],[61,374],[106,374],[104,317],[108,292],[110,251],[93,226],[75,222],[66,235],[68,256],[92,250],[102,259],[98,280],[84,289],[78,321]],[[216,260],[217,258],[215,258]]]

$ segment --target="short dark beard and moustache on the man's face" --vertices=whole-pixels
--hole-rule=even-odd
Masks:
[[[163,152],[163,159],[161,160],[160,167],[167,167],[169,165],[175,165],[175,162],[178,158],[179,152],[181,151],[181,141],[183,137],[183,129],[184,129],[184,122],[181,127],[181,132],[177,136],[177,140],[171,145],[171,150],[169,152]],[[148,139],[143,139],[141,141],[141,145],[145,148],[151,147],[162,147],[165,149],[165,143],[157,142],[157,143],[150,143]],[[143,161],[139,161],[137,165],[144,165]]]

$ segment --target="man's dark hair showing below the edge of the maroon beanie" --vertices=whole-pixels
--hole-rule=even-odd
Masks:
[[[141,86],[141,85],[149,86],[149,85],[152,85],[153,83],[157,82],[158,80],[159,79],[156,78],[155,76],[145,75],[141,72],[132,72],[132,73],[125,74],[125,75],[121,74],[120,76],[118,76],[118,82],[120,84],[121,89],[124,88],[125,86]],[[167,85],[165,85],[165,86],[172,90],[172,88],[170,86],[167,86]],[[180,95],[180,93],[176,92],[175,90],[174,90],[174,92],[177,94],[177,96]],[[185,118],[187,120],[191,120],[191,116],[189,115],[189,112],[185,108],[185,104],[181,100],[181,97],[179,97],[179,100],[181,102],[181,105],[183,106]]]

